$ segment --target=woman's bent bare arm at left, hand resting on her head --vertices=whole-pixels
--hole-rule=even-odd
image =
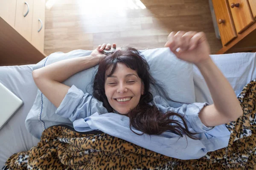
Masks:
[[[97,65],[105,57],[100,51],[110,47],[110,44],[99,45],[89,56],[61,60],[34,70],[32,76],[35,84],[44,96],[58,108],[70,88],[61,82],[80,71]]]

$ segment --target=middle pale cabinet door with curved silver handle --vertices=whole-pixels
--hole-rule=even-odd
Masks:
[[[32,16],[33,0],[17,0],[15,29],[29,42],[31,42]]]

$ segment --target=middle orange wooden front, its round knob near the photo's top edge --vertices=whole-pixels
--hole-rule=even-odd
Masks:
[[[255,22],[248,0],[228,0],[236,32],[241,34]]]

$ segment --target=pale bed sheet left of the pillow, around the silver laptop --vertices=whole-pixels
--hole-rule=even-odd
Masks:
[[[32,65],[0,67],[0,82],[23,100],[24,105],[0,130],[0,168],[12,154],[29,150],[39,140],[29,134],[25,119],[31,109],[37,86],[32,78]]]

